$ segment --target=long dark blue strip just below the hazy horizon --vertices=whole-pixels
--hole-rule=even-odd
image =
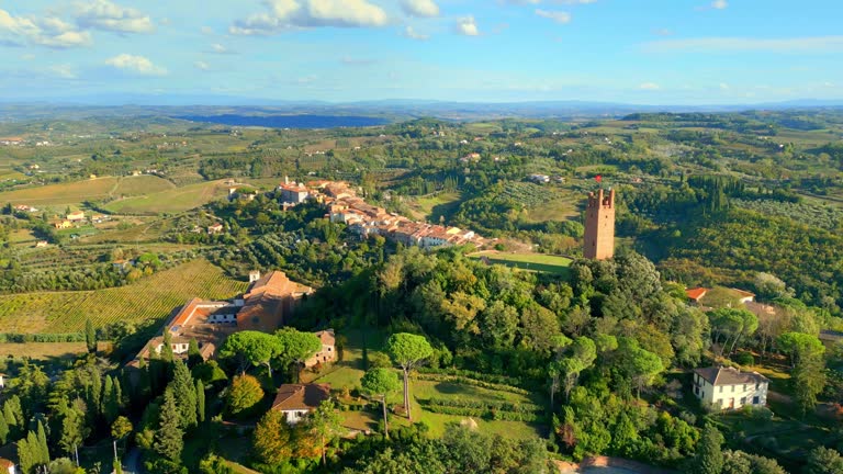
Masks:
[[[233,126],[271,128],[336,128],[384,125],[385,119],[356,115],[180,115],[173,119]]]

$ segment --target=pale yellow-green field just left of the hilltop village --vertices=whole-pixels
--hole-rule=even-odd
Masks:
[[[105,208],[117,214],[178,213],[207,204],[226,194],[223,181],[207,181],[112,201]]]

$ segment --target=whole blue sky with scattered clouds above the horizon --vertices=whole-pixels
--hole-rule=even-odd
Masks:
[[[843,99],[840,0],[0,0],[3,99]]]

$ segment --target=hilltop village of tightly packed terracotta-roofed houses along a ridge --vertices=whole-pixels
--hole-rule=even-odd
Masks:
[[[326,217],[330,222],[348,225],[349,230],[361,238],[379,235],[406,246],[422,248],[465,244],[483,248],[492,241],[472,230],[427,224],[389,213],[383,207],[367,203],[345,182],[314,181],[305,185],[290,182],[285,178],[276,192],[284,208],[306,201],[322,203],[327,208]]]

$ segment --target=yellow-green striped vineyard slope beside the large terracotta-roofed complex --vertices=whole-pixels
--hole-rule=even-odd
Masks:
[[[193,260],[137,283],[88,292],[0,296],[0,332],[71,332],[119,320],[161,320],[191,297],[229,298],[246,289],[205,260]]]

